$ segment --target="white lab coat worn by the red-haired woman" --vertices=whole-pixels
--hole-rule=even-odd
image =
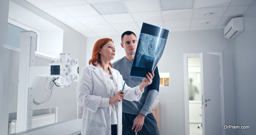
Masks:
[[[124,80],[116,69],[110,66],[109,69],[113,76],[116,94],[122,90]],[[111,135],[110,89],[108,85],[107,78],[99,65],[93,66],[91,64],[82,68],[76,88],[77,102],[80,106],[84,107],[82,135]],[[125,84],[124,99],[138,101],[142,92],[140,91],[140,86],[130,88]],[[117,102],[115,107],[117,112],[117,133],[122,135],[122,101]]]

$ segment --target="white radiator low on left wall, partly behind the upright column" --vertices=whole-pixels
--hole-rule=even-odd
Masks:
[[[32,117],[32,128],[45,126],[48,124],[55,123],[55,113],[36,115]],[[9,133],[16,133],[16,119],[9,122]]]

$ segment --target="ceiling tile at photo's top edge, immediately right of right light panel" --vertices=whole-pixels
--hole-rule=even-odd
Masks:
[[[196,0],[195,8],[224,7],[228,6],[231,0]]]

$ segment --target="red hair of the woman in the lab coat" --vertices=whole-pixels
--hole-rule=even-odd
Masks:
[[[96,43],[93,46],[93,50],[92,50],[92,59],[89,60],[89,65],[93,65],[93,66],[97,66],[98,64],[100,64],[100,66],[102,67],[102,62],[100,61],[100,48],[107,44],[109,41],[112,41],[112,39],[110,38],[102,38],[99,39],[98,41],[96,41]],[[113,42],[114,43],[114,42]],[[95,64],[96,62],[98,62],[98,64]],[[110,65],[111,68],[113,68],[113,64],[111,62],[108,63],[108,65]]]

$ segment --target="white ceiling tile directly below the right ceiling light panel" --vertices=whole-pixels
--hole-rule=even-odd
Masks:
[[[164,20],[191,19],[193,9],[165,10],[162,11]]]

